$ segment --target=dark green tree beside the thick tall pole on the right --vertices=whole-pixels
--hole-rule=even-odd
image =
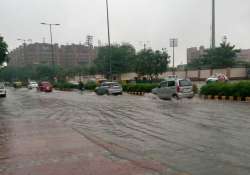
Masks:
[[[224,68],[232,67],[237,61],[237,53],[240,50],[235,49],[230,43],[222,42],[220,47],[215,49],[208,49],[201,58],[194,59],[188,66],[194,68],[210,67],[210,68]]]

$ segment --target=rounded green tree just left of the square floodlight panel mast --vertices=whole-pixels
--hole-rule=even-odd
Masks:
[[[141,50],[136,57],[135,71],[139,75],[148,75],[150,79],[157,78],[159,74],[168,69],[169,58],[165,51]]]

